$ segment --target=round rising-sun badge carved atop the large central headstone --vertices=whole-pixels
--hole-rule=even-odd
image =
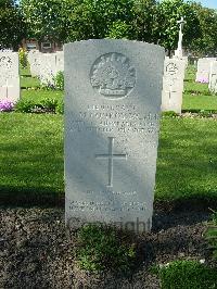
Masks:
[[[105,98],[124,98],[135,87],[136,70],[124,54],[106,53],[93,63],[90,71],[90,83]]]

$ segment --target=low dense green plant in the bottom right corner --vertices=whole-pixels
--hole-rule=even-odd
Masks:
[[[175,261],[157,274],[162,289],[217,288],[217,269],[196,261]]]

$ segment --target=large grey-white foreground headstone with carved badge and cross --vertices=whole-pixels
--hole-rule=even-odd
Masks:
[[[150,230],[164,49],[129,40],[65,45],[66,223]]]

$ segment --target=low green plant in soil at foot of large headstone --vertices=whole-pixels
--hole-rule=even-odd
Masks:
[[[136,249],[119,235],[112,227],[86,225],[80,228],[76,252],[79,267],[89,272],[128,272],[133,265]]]

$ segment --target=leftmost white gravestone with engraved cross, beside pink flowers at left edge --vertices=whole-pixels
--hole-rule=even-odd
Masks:
[[[0,51],[0,100],[16,102],[21,97],[18,53]]]

